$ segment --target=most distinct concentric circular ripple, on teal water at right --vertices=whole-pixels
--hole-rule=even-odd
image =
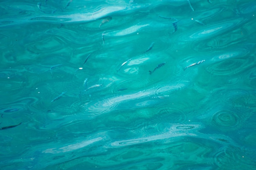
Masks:
[[[236,130],[243,125],[243,118],[238,112],[220,110],[211,117],[211,124],[224,131]]]

